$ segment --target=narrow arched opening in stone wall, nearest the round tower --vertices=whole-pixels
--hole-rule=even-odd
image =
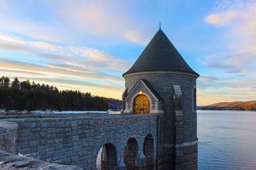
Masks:
[[[148,134],[144,140],[143,153],[146,157],[146,169],[154,169],[154,138]]]

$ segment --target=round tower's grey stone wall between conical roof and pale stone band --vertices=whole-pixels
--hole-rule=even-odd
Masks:
[[[128,93],[140,78],[148,83],[163,97],[163,110],[166,122],[164,143],[175,143],[173,85],[180,85],[182,90],[182,111],[184,112],[184,142],[196,140],[196,112],[193,111],[193,88],[196,86],[195,76],[173,73],[144,73],[125,76],[125,87]]]

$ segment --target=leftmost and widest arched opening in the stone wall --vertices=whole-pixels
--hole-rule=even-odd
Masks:
[[[96,168],[97,170],[112,170],[116,169],[116,149],[111,143],[106,143],[100,148],[97,155]]]

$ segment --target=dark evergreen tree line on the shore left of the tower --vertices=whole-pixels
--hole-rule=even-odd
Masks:
[[[79,90],[58,90],[52,85],[31,83],[29,80],[13,81],[0,78],[0,109],[2,110],[108,110],[103,97],[92,96]]]

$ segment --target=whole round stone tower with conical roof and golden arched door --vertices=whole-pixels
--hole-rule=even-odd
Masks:
[[[195,73],[159,29],[123,74],[122,113],[159,114],[157,169],[197,169]]]

